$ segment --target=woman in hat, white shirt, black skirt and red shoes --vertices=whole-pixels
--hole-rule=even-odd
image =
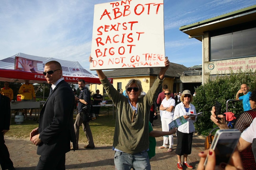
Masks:
[[[175,153],[178,156],[178,169],[182,170],[182,165],[187,166],[189,169],[193,169],[187,162],[187,157],[191,154],[192,149],[192,138],[195,131],[194,123],[197,116],[190,118],[186,113],[196,114],[195,106],[191,104],[193,96],[189,90],[184,90],[181,95],[181,103],[179,103],[174,110],[173,120],[180,116],[183,116],[187,123],[182,124],[177,130],[177,148]],[[181,163],[181,156],[183,155],[183,164]]]

